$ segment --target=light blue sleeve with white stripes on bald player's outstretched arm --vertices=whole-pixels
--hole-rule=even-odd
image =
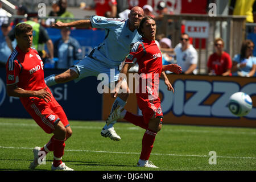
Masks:
[[[90,22],[93,28],[113,28],[125,23],[125,19],[106,18],[104,16],[91,16]]]

